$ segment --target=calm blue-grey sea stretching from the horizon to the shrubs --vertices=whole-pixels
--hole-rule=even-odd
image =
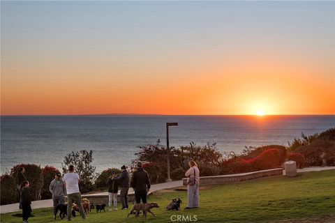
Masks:
[[[170,146],[216,142],[222,152],[244,146],[287,145],[295,137],[335,127],[335,116],[1,116],[1,173],[15,164],[36,163],[61,168],[66,153],[94,151],[98,172],[129,164],[137,146]]]

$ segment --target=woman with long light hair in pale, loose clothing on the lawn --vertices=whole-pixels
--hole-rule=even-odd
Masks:
[[[198,169],[198,165],[193,160],[191,160],[188,164],[190,169],[188,169],[185,173],[185,176],[187,177],[188,204],[185,209],[198,208],[200,171]]]

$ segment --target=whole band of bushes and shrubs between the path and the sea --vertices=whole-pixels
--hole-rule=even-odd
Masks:
[[[149,172],[151,183],[165,182],[166,178],[166,146],[161,141],[156,144],[140,146],[140,150],[135,155],[137,159],[132,160],[129,171],[135,169],[137,160],[144,162],[144,169]],[[171,178],[179,180],[184,177],[188,169],[188,162],[196,160],[199,165],[201,176],[215,176],[219,174],[237,174],[248,171],[258,171],[281,167],[285,160],[294,160],[298,168],[305,166],[320,166],[322,157],[329,166],[335,165],[335,128],[331,128],[320,134],[313,134],[306,137],[301,134],[301,139],[294,139],[289,146],[269,145],[259,147],[246,147],[240,154],[220,153],[216,144],[206,144],[198,146],[191,142],[189,146],[180,148],[170,148]],[[66,172],[68,164],[75,164],[78,174],[80,174],[80,190],[92,192],[94,190],[106,190],[105,180],[112,171],[119,173],[119,169],[106,169],[101,174],[96,174],[92,165],[93,151],[71,152],[64,157],[62,164],[63,172]],[[26,169],[27,180],[34,182],[31,186],[31,199],[49,199],[48,186],[58,171],[55,167],[41,168],[36,164],[17,164],[10,173],[4,174],[0,178],[1,183],[1,205],[15,203],[16,195],[16,175],[18,169]]]

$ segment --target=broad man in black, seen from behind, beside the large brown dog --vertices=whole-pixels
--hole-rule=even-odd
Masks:
[[[150,190],[149,174],[142,167],[142,162],[137,162],[137,169],[131,178],[131,187],[135,191],[136,203],[147,203],[147,193]]]

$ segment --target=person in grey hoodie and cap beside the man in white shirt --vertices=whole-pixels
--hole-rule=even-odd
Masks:
[[[52,194],[52,201],[54,201],[54,219],[56,219],[56,210],[58,204],[64,204],[64,197],[66,196],[66,186],[64,180],[61,179],[61,173],[57,172],[54,180],[51,181],[49,190]]]

